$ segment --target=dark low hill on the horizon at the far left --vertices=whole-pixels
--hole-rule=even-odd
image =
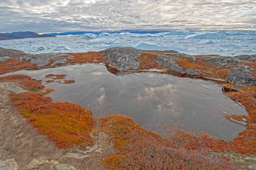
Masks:
[[[35,32],[12,32],[12,33],[0,33],[0,40],[12,40],[12,39],[22,39],[22,38],[40,38],[40,37],[55,37],[54,35],[40,35]]]

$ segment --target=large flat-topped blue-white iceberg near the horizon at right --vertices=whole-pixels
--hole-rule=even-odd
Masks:
[[[198,40],[220,40],[226,38],[226,31],[217,32],[196,32],[192,35],[187,35],[185,39],[198,39]]]

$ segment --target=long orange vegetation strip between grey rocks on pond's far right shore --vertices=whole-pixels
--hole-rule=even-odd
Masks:
[[[204,77],[225,79],[230,68],[218,67],[218,65],[213,65],[211,63],[205,63],[203,60],[198,62],[193,62],[187,58],[180,58],[177,60],[177,64],[183,69],[195,69],[198,73]]]

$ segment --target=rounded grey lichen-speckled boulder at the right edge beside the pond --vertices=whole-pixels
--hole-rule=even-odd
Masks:
[[[227,74],[227,80],[236,86],[254,86],[256,79],[253,77],[252,72],[248,70],[248,66],[239,65],[231,68]]]

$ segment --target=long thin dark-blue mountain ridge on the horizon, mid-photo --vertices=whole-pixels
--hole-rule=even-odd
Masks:
[[[92,34],[96,34],[99,35],[102,32],[106,32],[109,34],[113,34],[113,33],[121,33],[121,32],[130,32],[130,33],[137,33],[137,34],[156,34],[156,33],[160,33],[160,32],[166,32],[166,31],[140,31],[140,30],[120,30],[120,31],[70,31],[70,32],[61,32],[61,33],[47,33],[47,34],[43,34],[43,35],[80,35],[80,34],[85,34],[85,33],[92,33]]]

